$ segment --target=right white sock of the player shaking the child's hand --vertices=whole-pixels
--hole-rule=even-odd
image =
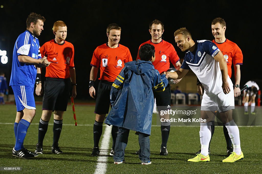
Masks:
[[[230,139],[233,144],[234,151],[236,154],[240,155],[241,154],[241,147],[240,147],[240,137],[239,137],[239,129],[234,122],[234,120],[228,122],[225,124],[228,135],[230,136]]]

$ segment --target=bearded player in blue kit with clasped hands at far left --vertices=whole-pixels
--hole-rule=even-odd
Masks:
[[[46,67],[50,64],[46,57],[41,58],[39,40],[36,38],[43,31],[44,22],[43,16],[30,13],[26,19],[26,31],[18,36],[13,51],[9,85],[12,86],[14,92],[17,114],[14,123],[16,141],[12,155],[20,158],[38,156],[24,148],[23,143],[36,110],[34,87],[37,70],[35,65]]]

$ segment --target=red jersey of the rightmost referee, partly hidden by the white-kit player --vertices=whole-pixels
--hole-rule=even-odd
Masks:
[[[228,75],[231,78],[232,75],[232,62],[233,65],[242,65],[243,64],[243,54],[241,49],[234,42],[226,39],[223,43],[216,43],[215,40],[212,40],[213,43],[217,45],[220,51],[223,53],[224,58],[227,61],[227,71]]]

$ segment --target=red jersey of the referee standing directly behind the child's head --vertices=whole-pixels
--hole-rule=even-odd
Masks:
[[[139,49],[142,45],[145,44],[151,44],[155,47],[155,61],[152,63],[161,74],[164,71],[167,71],[170,68],[170,61],[176,68],[175,64],[180,60],[176,50],[174,49],[174,46],[167,41],[161,40],[160,43],[152,43],[152,40],[146,41],[143,44],[139,46]],[[137,59],[140,59],[139,57],[139,49],[137,53]]]

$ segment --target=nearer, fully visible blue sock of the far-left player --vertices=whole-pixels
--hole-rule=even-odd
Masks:
[[[15,141],[15,150],[18,151],[23,148],[24,139],[29,128],[30,123],[25,119],[21,119],[17,126],[17,137]]]

